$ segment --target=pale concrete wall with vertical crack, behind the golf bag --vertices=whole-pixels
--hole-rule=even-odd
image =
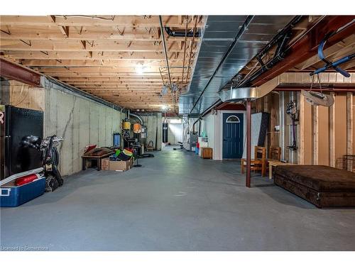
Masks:
[[[89,144],[112,145],[112,128],[121,131],[121,112],[45,82],[45,135],[64,138],[60,151],[62,175],[81,170],[81,156]]]

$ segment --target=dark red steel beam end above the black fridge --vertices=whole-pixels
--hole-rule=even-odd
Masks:
[[[40,86],[40,74],[0,58],[0,76],[31,86]]]

